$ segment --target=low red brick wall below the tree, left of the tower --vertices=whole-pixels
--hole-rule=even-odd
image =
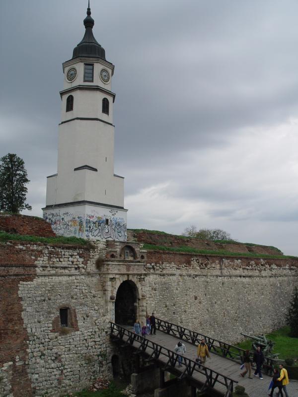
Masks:
[[[51,225],[41,218],[21,214],[0,213],[0,230],[8,233],[55,237]]]

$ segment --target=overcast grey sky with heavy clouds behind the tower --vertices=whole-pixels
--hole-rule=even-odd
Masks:
[[[42,216],[62,63],[87,0],[1,1],[0,156]],[[298,1],[90,0],[115,65],[115,173],[129,228],[221,228],[298,255]],[[24,212],[28,213],[28,212]]]

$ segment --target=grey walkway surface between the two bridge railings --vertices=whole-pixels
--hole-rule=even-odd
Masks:
[[[133,331],[132,327],[126,327],[129,331]],[[178,339],[172,335],[168,335],[167,333],[156,331],[156,335],[148,335],[148,339],[152,340],[153,342],[164,346],[170,350],[174,350]],[[197,358],[197,346],[194,346],[191,343],[183,341],[186,347],[186,354],[187,358],[191,360],[195,360]],[[248,379],[248,374],[245,378],[240,376],[240,364],[235,363],[227,358],[221,357],[217,354],[211,353],[211,358],[207,358],[206,366],[217,371],[229,378],[238,381],[238,385],[245,387],[245,392],[248,394],[249,397],[266,397],[268,396],[268,386],[271,382],[271,377],[263,374],[263,380],[255,377],[253,375],[254,370],[252,371],[253,379]],[[177,368],[177,367],[176,367]],[[178,368],[177,368],[178,369]],[[181,372],[183,371],[184,367],[181,368]],[[197,373],[194,373],[194,378],[201,380],[204,382],[205,378]],[[201,378],[201,379],[200,379]],[[235,384],[236,385],[236,384]],[[216,387],[217,390],[222,392],[225,391],[225,388],[218,385]],[[298,397],[298,383],[291,382],[289,387],[287,387],[288,393],[290,397]]]

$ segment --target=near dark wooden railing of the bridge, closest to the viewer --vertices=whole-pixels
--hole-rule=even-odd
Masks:
[[[160,320],[159,320],[160,321]],[[166,361],[164,370],[169,370],[169,368],[175,368],[178,364],[179,354],[172,350],[167,349],[157,343],[152,342],[151,339],[144,338],[141,335],[129,331],[126,328],[110,322],[111,325],[111,336],[122,340],[124,345],[134,347],[138,352],[145,353],[149,356],[148,359]],[[163,359],[163,360],[161,360]],[[193,381],[197,383],[197,388],[200,391],[204,391],[208,388],[214,388],[214,386],[219,383],[225,387],[224,397],[231,397],[233,392],[233,384],[238,383],[238,381],[231,379],[211,368],[199,365],[197,362],[182,356],[184,369],[178,379],[184,377],[190,377]],[[200,381],[193,377],[195,373],[203,375],[205,382],[203,386]]]

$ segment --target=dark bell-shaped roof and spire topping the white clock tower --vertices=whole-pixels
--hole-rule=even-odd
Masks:
[[[78,57],[101,58],[105,60],[105,51],[93,36],[94,19],[91,17],[90,1],[88,0],[87,16],[84,19],[85,34],[74,48],[73,59]]]

